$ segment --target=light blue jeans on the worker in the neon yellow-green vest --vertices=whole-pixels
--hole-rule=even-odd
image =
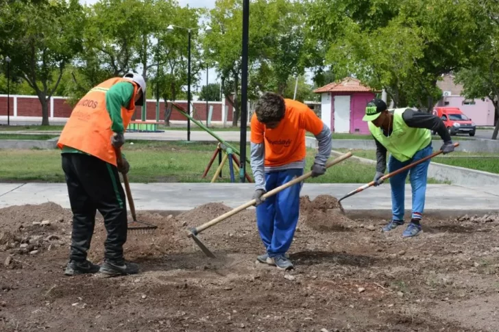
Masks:
[[[426,146],[426,148],[417,151],[413,158],[407,160],[406,162],[400,162],[398,159],[395,159],[392,155],[390,155],[388,161],[388,171],[391,173],[413,162],[416,162],[419,159],[427,157],[431,153],[433,153],[433,148],[430,144]],[[409,175],[409,179],[411,181],[411,187],[413,189],[412,218],[422,218],[424,211],[424,199],[426,195],[426,179],[428,179],[429,165],[430,159],[390,178],[391,212],[393,214],[392,220],[404,220],[405,181],[409,172],[411,172],[411,175]]]

